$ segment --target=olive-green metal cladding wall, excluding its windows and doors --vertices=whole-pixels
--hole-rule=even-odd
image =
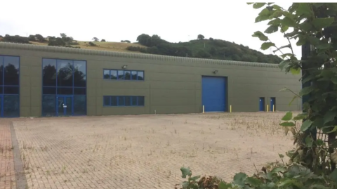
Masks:
[[[227,77],[227,103],[233,112],[259,110],[259,98],[276,98],[279,111],[300,110],[300,76],[281,72],[277,65],[227,60],[155,56],[140,53],[93,51],[77,48],[0,43],[2,55],[20,56],[20,115],[41,116],[41,61],[60,58],[87,61],[87,114],[138,115],[202,111],[201,76]],[[109,81],[103,69],[144,70],[145,81]],[[217,74],[213,74],[218,70]],[[144,107],[103,107],[103,96],[145,96]],[[229,110],[229,108],[227,108]]]

